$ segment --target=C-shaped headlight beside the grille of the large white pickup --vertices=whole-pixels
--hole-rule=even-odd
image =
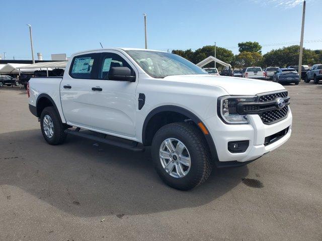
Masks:
[[[240,102],[255,102],[257,96],[222,96],[218,98],[217,112],[226,124],[249,124],[247,114],[237,113]]]

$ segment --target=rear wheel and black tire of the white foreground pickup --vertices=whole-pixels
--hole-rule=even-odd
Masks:
[[[40,128],[43,137],[50,145],[61,144],[66,139],[65,127],[53,106],[48,106],[41,112]]]

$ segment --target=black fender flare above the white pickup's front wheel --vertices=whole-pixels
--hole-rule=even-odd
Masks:
[[[213,142],[213,139],[211,137],[211,134],[208,131],[206,125],[204,125],[203,122],[201,121],[201,119],[197,115],[195,115],[193,112],[191,112],[190,110],[187,110],[187,109],[185,109],[183,107],[176,106],[176,105],[163,105],[163,106],[159,106],[159,107],[154,108],[153,110],[151,110],[147,114],[147,116],[145,117],[145,120],[144,120],[143,128],[142,128],[142,142],[143,142],[143,144],[144,144],[145,138],[146,138],[145,137],[146,127],[147,127],[147,124],[149,123],[150,119],[155,114],[160,113],[160,112],[164,112],[164,111],[173,111],[173,112],[177,112],[177,113],[186,115],[197,126],[198,126],[199,123],[201,123],[206,128],[206,131],[208,132],[207,135],[205,135],[203,132],[202,133],[203,133],[203,136],[206,139],[206,142],[207,142],[207,145],[209,147],[209,151],[211,153],[211,156],[212,156],[215,164],[217,164],[217,162],[219,162],[218,155],[217,155],[217,151],[216,151],[216,146],[215,146],[215,144]]]

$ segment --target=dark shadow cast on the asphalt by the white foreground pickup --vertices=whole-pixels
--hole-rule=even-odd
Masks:
[[[214,169],[208,181],[185,192],[159,179],[149,150],[133,153],[73,136],[63,145],[50,146],[40,130],[1,134],[0,144],[0,185],[19,187],[81,217],[122,217],[204,205],[248,175],[246,166]]]

